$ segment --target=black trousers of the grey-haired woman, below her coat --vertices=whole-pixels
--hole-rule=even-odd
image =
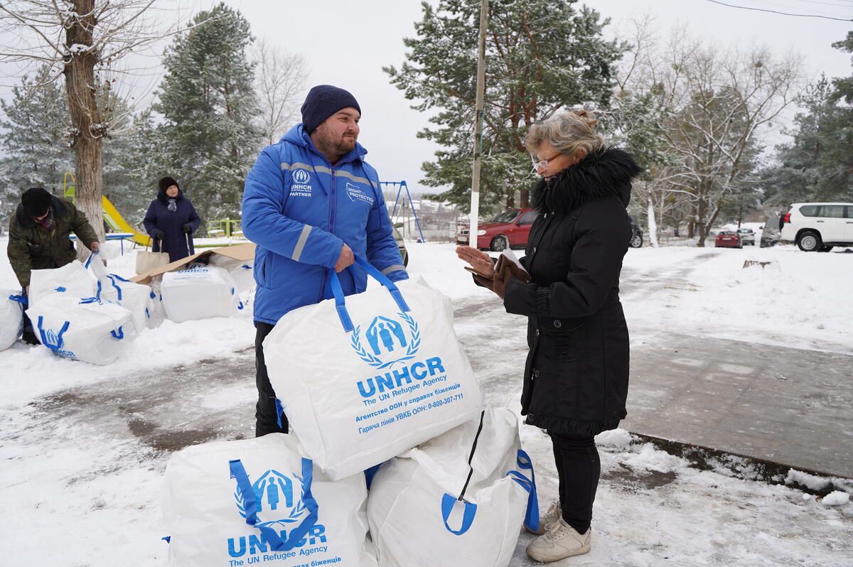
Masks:
[[[595,448],[595,437],[550,434],[554,445],[554,462],[560,477],[560,508],[566,524],[586,533],[592,522],[592,505],[601,459]]]

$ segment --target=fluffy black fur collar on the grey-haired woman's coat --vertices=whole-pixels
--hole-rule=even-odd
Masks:
[[[628,206],[631,180],[641,171],[630,153],[604,146],[551,181],[539,180],[531,190],[531,207],[542,214],[566,215],[590,200],[610,196]]]

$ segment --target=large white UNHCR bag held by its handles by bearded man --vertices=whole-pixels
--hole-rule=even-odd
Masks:
[[[283,315],[264,339],[270,383],[305,451],[329,477],[361,472],[472,419],[483,408],[453,330],[450,298],[422,280]]]

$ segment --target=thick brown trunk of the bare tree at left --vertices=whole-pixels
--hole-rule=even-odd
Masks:
[[[98,240],[104,240],[103,208],[103,138],[106,126],[102,123],[95,91],[95,64],[98,59],[87,46],[92,44],[92,31],[97,25],[95,0],[73,0],[77,14],[67,27],[66,45],[70,55],[65,65],[65,90],[68,113],[73,126],[73,148],[77,159],[77,206],[89,219]],[[75,46],[73,48],[73,46]],[[90,242],[83,242],[89,246]],[[84,246],[78,247],[78,257],[88,256]]]

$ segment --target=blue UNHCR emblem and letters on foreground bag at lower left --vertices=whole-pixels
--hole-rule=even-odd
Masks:
[[[261,518],[261,514],[266,518],[276,518],[261,521],[257,527],[276,529],[280,533],[282,541],[287,539],[287,532],[295,528],[298,525],[297,523],[309,513],[308,506],[305,506],[305,502],[301,498],[305,494],[305,481],[296,473],[287,475],[276,470],[266,471],[252,483],[252,493],[258,519]],[[246,518],[249,512],[248,500],[250,499],[248,495],[242,494],[239,485],[235,489],[234,499],[237,511],[243,518]],[[322,524],[315,524],[305,535],[305,538],[294,547],[313,546],[319,543],[326,543],[326,528]],[[260,533],[229,537],[228,539],[228,554],[233,558],[271,551],[270,543]],[[295,555],[296,553],[293,553],[293,556]],[[251,559],[249,562],[254,563]]]

